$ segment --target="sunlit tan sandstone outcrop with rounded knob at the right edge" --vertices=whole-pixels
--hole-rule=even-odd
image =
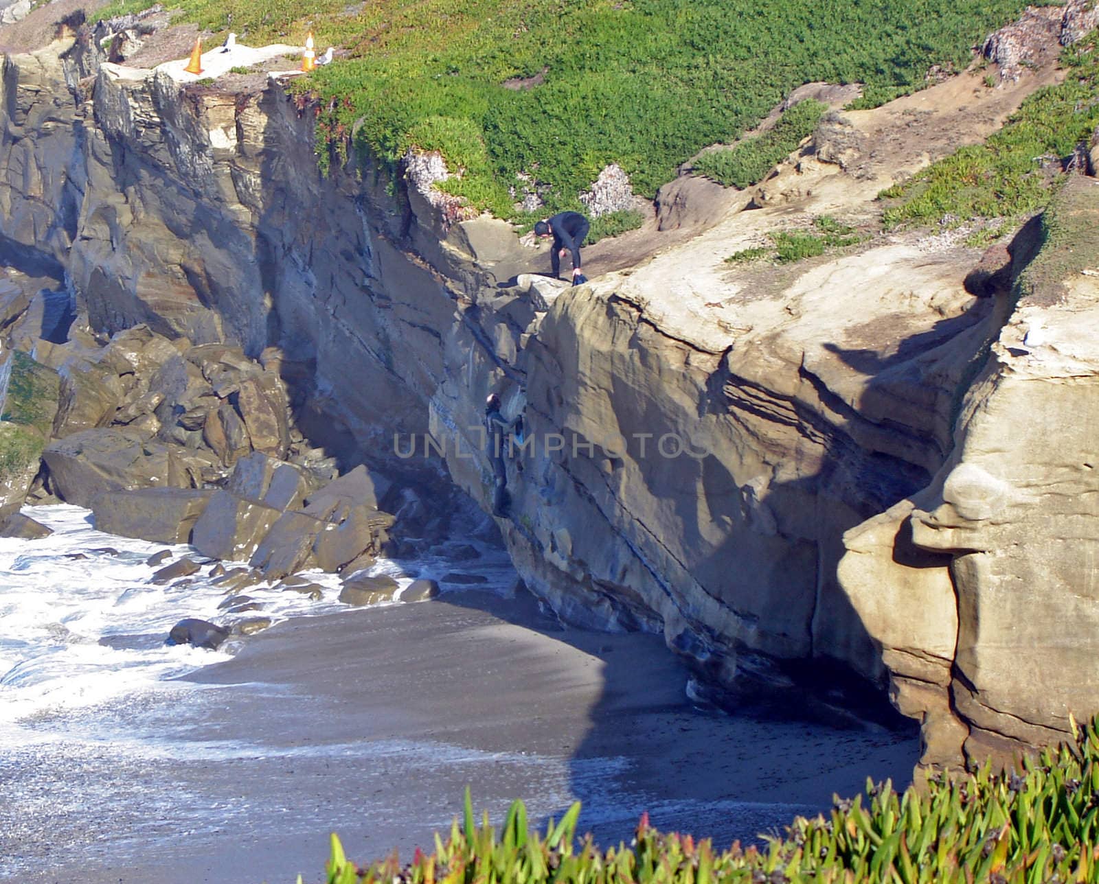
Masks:
[[[931,484],[847,533],[844,590],[882,648],[925,764],[1063,739],[1097,710],[1099,182],[1050,210],[1019,305]]]

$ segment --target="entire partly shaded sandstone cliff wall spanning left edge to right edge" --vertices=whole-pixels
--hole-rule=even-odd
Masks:
[[[1039,544],[1043,526],[1002,513],[1090,468],[1080,430],[1081,450],[1066,441],[1064,468],[1036,479],[1042,446],[1026,434],[1051,424],[1004,429],[1014,391],[1052,376],[1023,372],[1004,343],[1023,322],[1001,333],[1008,299],[963,289],[973,250],[909,237],[730,270],[731,251],[852,187],[808,157],[761,191],[766,208],[565,289],[523,275],[547,261],[509,225],[445,226],[417,186],[391,195],[365,164],[322,179],[308,104],[278,85],[181,90],[84,59],[55,44],[4,63],[0,242],[20,269],[68,279],[93,328],[144,322],[253,356],[278,346],[299,426],[347,458],[445,468],[486,510],[485,400],[499,394],[507,418],[524,416],[499,519],[524,579],[569,619],[663,630],[700,695],[775,697],[834,663],[891,682],[925,723],[929,762],[956,760],[969,726],[1039,739],[1064,729],[1066,708],[1092,709],[1066,687],[1035,712],[1041,697],[1001,684],[1011,654],[988,606],[1019,616],[1032,597],[997,597],[1022,581],[1017,566],[1030,562],[1029,592],[1063,598],[1065,616],[1090,585],[1077,577],[1094,577],[1081,542],[1078,574],[1052,588],[1043,562],[1061,547],[1023,555],[1011,533]],[[866,172],[856,189],[880,184]],[[811,190],[793,212],[789,194]],[[1058,374],[1043,419],[1074,407],[1081,371]],[[966,494],[980,500],[958,508]],[[1077,527],[1050,536],[1070,542],[1090,513],[1064,500]],[[1068,671],[1081,647],[1051,660]],[[1012,716],[1034,729],[1009,729]]]

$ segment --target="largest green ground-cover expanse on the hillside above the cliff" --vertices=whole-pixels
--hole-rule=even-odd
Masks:
[[[152,5],[122,0],[100,14]],[[393,166],[418,138],[447,157],[476,153],[459,188],[478,208],[517,172],[547,211],[578,209],[611,161],[652,195],[677,166],[755,126],[804,82],[864,82],[870,101],[924,85],[932,65],[964,67],[970,47],[1024,0],[167,0],[212,32],[348,57],[296,89],[320,99],[318,154],[354,149]],[[526,89],[503,86],[544,74]],[[442,123],[440,118],[460,123]],[[351,133],[354,132],[354,137]],[[762,145],[759,146],[762,147]],[[755,163],[762,160],[755,159]],[[748,164],[745,158],[745,164]],[[751,164],[748,164],[751,165]]]

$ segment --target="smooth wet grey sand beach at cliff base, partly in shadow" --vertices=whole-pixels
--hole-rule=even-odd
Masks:
[[[55,741],[0,769],[0,869],[312,882],[329,831],[359,862],[409,857],[467,783],[493,820],[515,797],[541,825],[579,799],[600,843],[629,840],[647,809],[724,847],[867,776],[908,783],[911,734],[702,712],[686,678],[659,637],[562,629],[525,594],[289,620],[186,683],[97,709],[98,745],[66,742],[76,721],[42,723]]]

